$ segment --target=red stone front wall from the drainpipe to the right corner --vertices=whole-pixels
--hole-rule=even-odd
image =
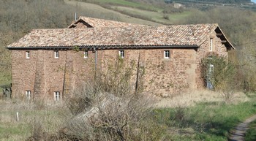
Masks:
[[[143,66],[145,75],[144,91],[159,96],[170,96],[186,88],[195,88],[195,50],[194,49],[167,49],[170,58],[164,58],[165,49],[152,50],[124,50],[124,62],[130,64],[135,61],[132,71],[132,85],[135,88],[138,60]],[[102,68],[107,68],[118,56],[118,50],[101,50],[99,62]],[[140,56],[140,59],[139,59]]]

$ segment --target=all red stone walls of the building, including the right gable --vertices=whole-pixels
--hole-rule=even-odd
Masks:
[[[197,50],[125,49],[125,64],[135,64],[131,79],[133,88],[137,75],[138,82],[143,84],[143,91],[157,96],[172,96],[182,91],[203,88],[200,61],[210,52],[210,38],[213,39],[211,52],[227,56],[227,49],[216,33]],[[164,58],[165,50],[170,50],[170,58]],[[29,51],[31,58],[26,58],[26,50],[12,50],[14,96],[24,96],[26,91],[31,91],[32,96],[54,99],[54,91],[59,91],[61,98],[69,97],[83,86],[84,81],[94,78],[96,53],[97,69],[106,71],[118,58],[119,50],[88,50],[88,58],[83,57],[84,50],[59,50],[59,58],[54,58],[54,50]]]

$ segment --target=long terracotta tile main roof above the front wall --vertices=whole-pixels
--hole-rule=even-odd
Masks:
[[[7,48],[200,46],[216,28],[217,24],[34,29]]]

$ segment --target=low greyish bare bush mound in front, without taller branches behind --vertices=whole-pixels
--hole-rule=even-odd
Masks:
[[[67,126],[61,130],[63,137],[69,140],[150,140],[161,138],[162,130],[151,121],[150,96],[127,94],[114,96],[102,93],[91,98],[88,110],[72,117]],[[145,121],[145,122],[144,122]],[[148,125],[151,124],[151,125]],[[78,132],[79,131],[79,132]],[[154,132],[153,134],[148,133]],[[157,135],[158,134],[158,135]],[[156,136],[157,135],[157,136]]]

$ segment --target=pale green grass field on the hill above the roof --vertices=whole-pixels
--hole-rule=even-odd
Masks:
[[[187,10],[181,13],[164,14],[162,12],[164,9],[124,0],[92,0],[89,1],[91,3],[65,0],[65,2],[80,9],[86,9],[90,12],[89,15],[94,15],[95,18],[104,17],[146,25],[177,24],[194,13],[193,10]]]

